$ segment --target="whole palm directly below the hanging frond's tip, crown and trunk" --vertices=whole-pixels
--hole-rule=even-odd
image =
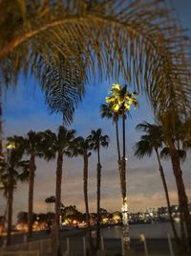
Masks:
[[[45,158],[52,160],[57,157],[55,183],[55,221],[58,226],[60,225],[63,155],[72,155],[70,146],[74,140],[74,134],[74,129],[68,130],[62,126],[58,128],[57,133],[54,133],[49,129],[43,133],[42,147],[45,149]]]

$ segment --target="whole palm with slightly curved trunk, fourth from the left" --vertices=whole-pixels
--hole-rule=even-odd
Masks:
[[[92,247],[92,236],[91,236],[91,224],[90,224],[90,211],[88,203],[88,159],[91,156],[91,145],[88,138],[77,137],[74,139],[72,145],[74,155],[81,155],[83,157],[84,168],[83,168],[83,184],[84,184],[84,202],[86,209],[86,222],[89,231],[89,243]]]

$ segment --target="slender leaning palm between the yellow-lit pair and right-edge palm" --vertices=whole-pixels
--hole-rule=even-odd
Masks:
[[[143,130],[146,132],[145,135],[142,135],[140,137],[140,140],[138,143],[135,145],[135,155],[141,159],[143,156],[148,155],[150,156],[153,151],[156,152],[158,162],[159,162],[159,174],[161,176],[163,188],[164,188],[164,193],[166,197],[166,202],[167,202],[167,208],[168,208],[168,214],[169,218],[171,221],[171,226],[172,230],[174,233],[174,238],[176,239],[177,244],[179,244],[179,238],[177,235],[177,230],[175,227],[175,222],[172,216],[172,211],[171,211],[171,205],[170,205],[170,199],[168,195],[168,188],[165,180],[165,175],[163,172],[163,168],[159,159],[159,148],[162,147],[163,143],[163,138],[162,138],[162,131],[161,128],[158,125],[151,125],[147,122],[143,122],[141,124],[138,124],[136,127],[137,130]]]

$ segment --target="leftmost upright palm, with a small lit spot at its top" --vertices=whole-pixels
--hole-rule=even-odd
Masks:
[[[2,171],[4,196],[8,199],[8,231],[7,245],[11,244],[12,201],[13,189],[18,180],[26,181],[29,178],[29,161],[21,161],[22,152],[12,143],[8,144],[8,158]]]

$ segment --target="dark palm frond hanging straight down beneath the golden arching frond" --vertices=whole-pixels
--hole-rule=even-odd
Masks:
[[[64,124],[70,124],[73,121],[74,108],[84,94],[85,78],[77,70],[75,60],[69,63],[62,56],[59,60],[59,63],[54,63],[51,58],[49,62],[40,58],[38,66],[32,67],[32,73],[37,79],[40,78],[41,89],[50,112],[62,113]]]

